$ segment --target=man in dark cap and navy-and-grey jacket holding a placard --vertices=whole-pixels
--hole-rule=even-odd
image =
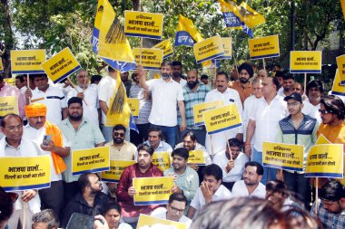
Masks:
[[[284,100],[287,102],[290,115],[279,121],[276,142],[302,145],[304,146],[304,152],[303,171],[283,170],[283,177],[280,178],[284,180],[293,193],[301,195],[305,207],[308,208],[311,201],[311,179],[304,177],[304,172],[309,151],[316,142],[316,132],[319,129],[319,124],[316,119],[302,113],[303,101],[301,94],[294,92],[285,97]],[[279,175],[280,171],[278,171],[277,177]]]

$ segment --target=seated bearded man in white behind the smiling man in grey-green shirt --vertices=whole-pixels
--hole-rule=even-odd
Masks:
[[[212,164],[210,154],[207,152],[206,148],[197,141],[194,135],[194,131],[185,133],[182,139],[183,141],[177,144],[176,148],[185,148],[188,151],[202,150],[203,157],[205,158],[205,166]],[[188,164],[188,166],[192,167],[192,169],[194,169],[198,173],[200,183],[202,183],[202,169],[205,166],[199,166],[198,164]]]

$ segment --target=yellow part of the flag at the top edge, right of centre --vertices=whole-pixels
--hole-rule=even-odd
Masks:
[[[247,5],[244,1],[241,5],[236,5],[237,1],[234,0],[234,3],[227,3],[224,0],[218,0],[221,4],[222,12],[233,12],[244,24],[249,28],[253,28],[258,24],[263,24],[266,22],[265,18],[251,8],[250,5]]]

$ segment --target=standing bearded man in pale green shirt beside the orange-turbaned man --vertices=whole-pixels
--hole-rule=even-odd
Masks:
[[[68,100],[68,118],[64,119],[59,128],[68,139],[71,150],[104,146],[104,136],[97,123],[84,119],[83,100],[72,97]],[[64,157],[67,169],[63,174],[64,203],[67,204],[78,192],[78,177],[72,176],[72,156]]]

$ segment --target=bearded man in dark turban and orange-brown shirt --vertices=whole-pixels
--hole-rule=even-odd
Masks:
[[[254,75],[254,71],[252,70],[251,64],[243,62],[239,67],[239,74],[239,81],[232,83],[232,89],[239,92],[243,104],[244,100],[252,94],[251,81],[249,80]]]

